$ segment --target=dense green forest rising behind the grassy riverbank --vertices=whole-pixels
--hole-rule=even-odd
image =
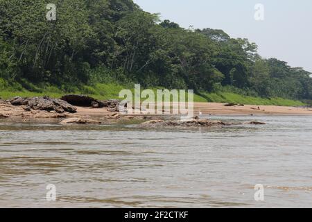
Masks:
[[[221,30],[180,28],[132,0],[0,0],[0,78],[64,88],[94,83],[312,99],[312,78]],[[285,49],[287,53],[287,48]],[[1,81],[0,81],[1,82]]]

